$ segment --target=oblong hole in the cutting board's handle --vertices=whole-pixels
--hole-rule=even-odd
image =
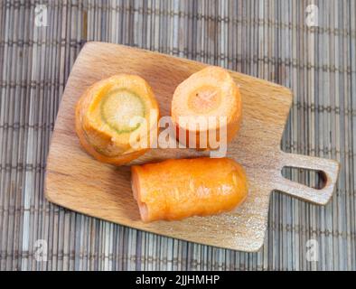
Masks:
[[[316,190],[323,190],[327,181],[325,172],[320,170],[284,166],[281,170],[281,173],[282,176],[287,180],[304,184],[305,186]],[[310,185],[310,183],[313,183],[313,181],[314,185]]]

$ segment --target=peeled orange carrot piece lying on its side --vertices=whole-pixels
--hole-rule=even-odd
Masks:
[[[132,190],[141,219],[174,220],[229,211],[246,199],[246,173],[229,158],[134,165]]]

